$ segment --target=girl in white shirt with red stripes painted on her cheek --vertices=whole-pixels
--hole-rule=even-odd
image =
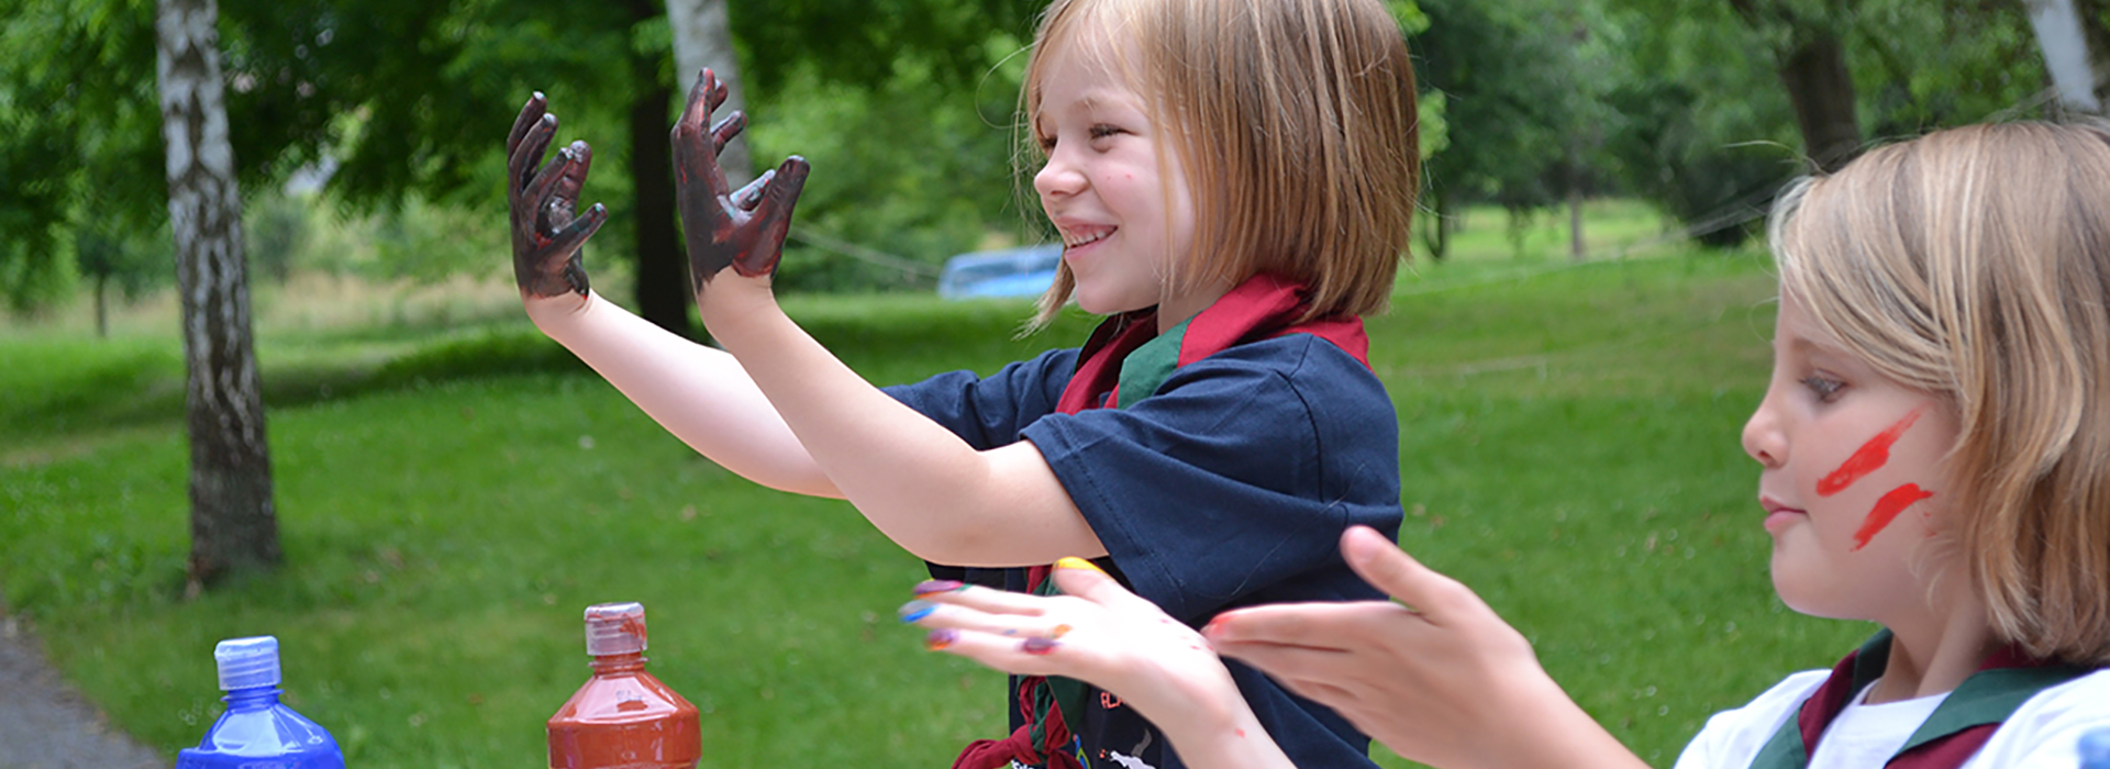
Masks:
[[[2110,131],[1880,147],[1791,185],[1770,240],[1751,525],[1783,603],[1882,630],[1715,714],[1677,767],[2076,767],[2110,725]],[[1194,636],[1063,560],[1066,596],[918,586],[918,624],[937,649],[1099,683],[1215,767],[1289,761],[1209,651],[1435,767],[1644,767],[1469,588],[1369,529],[1340,548],[1399,600],[1234,609]]]

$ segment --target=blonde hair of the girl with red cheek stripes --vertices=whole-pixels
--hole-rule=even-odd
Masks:
[[[2110,133],[1986,124],[1783,194],[1781,293],[1958,415],[1950,544],[1994,632],[2110,662]]]

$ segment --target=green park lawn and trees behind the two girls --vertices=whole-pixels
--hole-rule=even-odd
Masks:
[[[502,135],[549,93],[559,139],[595,145],[582,200],[612,211],[595,287],[701,339],[665,137],[677,61],[717,40],[751,156],[814,164],[789,312],[876,383],[990,373],[1091,327],[1019,337],[1025,301],[931,291],[954,253],[1044,238],[1011,131],[1038,2],[709,0],[701,32],[696,4],[217,4],[241,190],[222,259],[243,268],[222,274],[262,373],[276,552],[200,567],[190,520],[230,512],[188,491],[203,310],[175,282],[207,257],[171,238],[154,23],[213,4],[0,0],[0,619],[169,756],[219,710],[211,645],[276,634],[287,702],[357,767],[540,765],[603,600],[646,603],[705,767],[945,765],[998,735],[1002,676],[893,619],[912,556],[846,504],[696,457],[525,322]],[[1709,712],[1872,632],[1772,596],[1737,445],[1772,192],[1880,141],[2099,110],[2047,61],[2078,40],[2102,72],[2110,11],[1388,4],[1426,158],[1414,265],[1369,322],[1401,544],[1669,765]]]

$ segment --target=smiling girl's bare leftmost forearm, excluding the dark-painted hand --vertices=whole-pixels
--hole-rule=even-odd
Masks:
[[[682,339],[595,293],[528,299],[528,316],[652,421],[726,470],[772,489],[842,495],[724,350]]]

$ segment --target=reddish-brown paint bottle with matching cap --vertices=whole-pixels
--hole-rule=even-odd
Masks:
[[[696,706],[646,672],[646,607],[587,607],[593,678],[549,716],[551,769],[692,769]]]

